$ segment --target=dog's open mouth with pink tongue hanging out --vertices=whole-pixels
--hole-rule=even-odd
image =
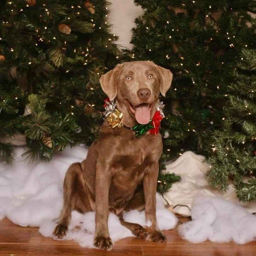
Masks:
[[[133,106],[128,101],[127,101],[127,104],[130,108],[131,113],[135,116],[135,119],[139,124],[141,125],[148,124],[150,120],[150,112],[152,109],[152,104],[142,103],[137,106]]]

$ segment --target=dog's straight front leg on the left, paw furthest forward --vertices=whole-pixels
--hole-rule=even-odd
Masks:
[[[95,235],[94,246],[100,249],[111,249],[112,241],[109,237],[108,231],[108,194],[111,184],[110,171],[101,164],[97,164],[96,167],[96,184],[95,184]]]

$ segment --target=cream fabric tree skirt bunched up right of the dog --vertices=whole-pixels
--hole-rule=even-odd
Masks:
[[[166,172],[174,172],[181,177],[181,181],[174,183],[164,198],[169,205],[174,207],[175,213],[191,216],[191,208],[195,195],[208,195],[212,197],[222,197],[228,201],[240,204],[248,212],[256,212],[256,201],[242,203],[239,202],[235,194],[232,181],[229,181],[229,189],[219,192],[213,189],[205,178],[205,173],[209,166],[204,163],[205,158],[191,151],[183,153],[176,161],[166,165]]]

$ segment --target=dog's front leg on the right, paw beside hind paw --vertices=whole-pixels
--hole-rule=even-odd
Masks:
[[[155,242],[166,241],[166,236],[159,229],[156,221],[156,186],[159,172],[159,164],[154,163],[149,167],[143,177],[143,189],[145,197],[145,215],[148,226],[147,240]]]

